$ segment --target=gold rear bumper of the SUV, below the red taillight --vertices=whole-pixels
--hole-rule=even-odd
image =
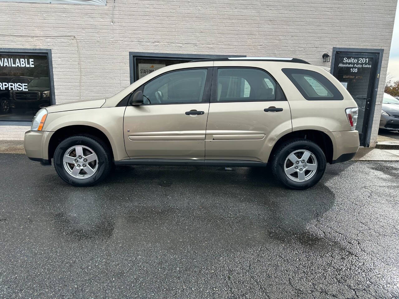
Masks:
[[[333,156],[331,163],[342,163],[352,159],[359,149],[359,132],[338,131],[326,132],[333,144]]]

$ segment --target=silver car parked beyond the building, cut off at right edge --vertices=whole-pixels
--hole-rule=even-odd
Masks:
[[[399,100],[384,92],[379,128],[399,130]]]

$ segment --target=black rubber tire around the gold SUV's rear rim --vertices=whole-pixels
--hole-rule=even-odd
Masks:
[[[312,174],[311,177],[306,179],[306,181],[294,181],[293,179],[290,179],[288,175],[286,175],[284,171],[284,163],[288,164],[290,163],[288,161],[288,156],[295,152],[295,151],[300,151],[300,150],[306,150],[310,151],[314,157],[317,160],[317,168],[316,171]],[[296,155],[299,155],[300,152],[296,153]],[[287,159],[287,160],[286,160]],[[313,157],[310,157],[310,159],[313,159]],[[300,157],[298,158],[298,161],[300,164],[298,164],[298,167],[301,167],[301,160]],[[295,167],[296,165],[292,163],[292,165]],[[287,167],[290,165],[288,164]],[[310,165],[309,165],[310,166]],[[306,166],[308,167],[308,166]],[[298,168],[298,171],[301,170],[302,168]],[[324,152],[318,146],[316,143],[302,139],[302,138],[297,138],[290,140],[280,146],[280,148],[277,149],[275,152],[275,155],[272,158],[272,171],[273,175],[279,179],[279,181],[286,187],[290,189],[307,189],[315,185],[322,176],[324,175],[324,171],[326,171],[326,156],[324,155]],[[311,171],[308,171],[308,175],[311,174]],[[296,174],[295,174],[296,173]],[[303,170],[303,173],[306,173],[305,170]],[[292,174],[292,177],[297,175],[299,179],[299,173],[294,172]],[[295,179],[295,178],[294,178]]]

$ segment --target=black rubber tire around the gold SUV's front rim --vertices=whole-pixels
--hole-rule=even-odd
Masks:
[[[93,175],[87,178],[75,178],[67,172],[64,167],[63,157],[68,149],[73,146],[85,146],[92,149],[98,158],[97,170]],[[101,182],[111,171],[112,164],[111,155],[109,150],[101,140],[92,136],[75,135],[63,140],[55,149],[54,152],[54,167],[59,177],[65,182],[73,186],[91,186]],[[81,173],[81,172],[80,172]]]

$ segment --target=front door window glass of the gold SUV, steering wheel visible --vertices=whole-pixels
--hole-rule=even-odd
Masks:
[[[144,85],[144,104],[202,102],[207,69],[167,73]]]

